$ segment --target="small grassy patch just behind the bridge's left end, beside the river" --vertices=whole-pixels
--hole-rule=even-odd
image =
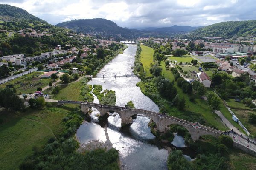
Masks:
[[[58,94],[51,94],[52,99],[55,100],[76,100],[83,101],[83,96],[81,95],[81,82],[74,82],[69,85],[61,85],[61,90]]]

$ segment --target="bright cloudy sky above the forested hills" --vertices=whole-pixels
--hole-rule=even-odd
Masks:
[[[0,0],[51,24],[105,18],[122,27],[206,26],[256,20],[255,0]]]

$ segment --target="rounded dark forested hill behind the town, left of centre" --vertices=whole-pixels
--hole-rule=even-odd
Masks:
[[[121,34],[124,37],[139,34],[139,30],[131,30],[119,27],[116,23],[102,18],[71,20],[59,23],[56,26],[69,28],[82,33],[103,33],[103,34]]]

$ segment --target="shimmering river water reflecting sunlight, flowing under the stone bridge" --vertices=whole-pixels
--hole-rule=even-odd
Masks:
[[[136,50],[136,45],[128,45],[123,54],[119,54],[105,65],[96,78],[88,84],[102,85],[103,90],[114,90],[117,106],[125,106],[127,102],[132,101],[135,108],[158,112],[158,106],[136,86],[140,79],[134,76],[131,69],[134,66]],[[94,102],[99,102],[96,96]],[[165,144],[156,139],[148,127],[150,121],[148,117],[138,115],[130,126],[121,127],[120,116],[111,113],[105,124],[107,127],[105,133],[104,125],[99,124],[96,117],[99,112],[94,108],[92,110],[91,121],[83,123],[77,130],[76,136],[79,142],[86,144],[95,139],[106,142],[109,138],[113,147],[119,150],[122,168],[125,170],[166,170],[168,158],[166,147],[176,146],[183,150],[184,156],[189,161],[195,157],[195,153],[185,146],[184,139],[178,135],[175,135],[172,144]]]

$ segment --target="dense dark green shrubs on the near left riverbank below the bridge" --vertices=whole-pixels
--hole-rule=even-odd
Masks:
[[[73,136],[83,121],[82,115],[79,110],[70,112],[63,119],[65,130],[62,135],[57,139],[50,138],[42,150],[35,148],[34,154],[20,165],[20,170],[119,170],[116,149],[96,149],[84,153],[76,151],[79,144]]]

